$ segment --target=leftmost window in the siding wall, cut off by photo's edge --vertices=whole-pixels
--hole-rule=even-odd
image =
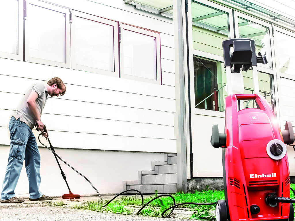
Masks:
[[[0,7],[0,30],[2,33],[0,35],[0,56],[22,60],[23,1],[6,0],[4,2],[1,2],[3,6]]]

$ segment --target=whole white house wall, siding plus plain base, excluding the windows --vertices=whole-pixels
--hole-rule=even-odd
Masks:
[[[50,97],[42,114],[51,143],[101,194],[121,192],[123,180],[137,180],[137,171],[150,170],[151,161],[163,161],[164,153],[176,152],[173,20],[135,10],[122,0],[51,2],[160,32],[162,85],[0,58],[0,182],[13,110],[30,85],[60,77],[67,92]],[[37,131],[34,134],[37,137]],[[41,190],[54,196],[66,193],[53,154],[45,148],[40,154]],[[96,194],[80,175],[61,165],[72,192]],[[16,194],[28,196],[27,185],[23,168]]]

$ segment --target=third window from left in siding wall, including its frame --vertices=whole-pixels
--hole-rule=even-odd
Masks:
[[[119,76],[118,22],[73,11],[72,68]]]

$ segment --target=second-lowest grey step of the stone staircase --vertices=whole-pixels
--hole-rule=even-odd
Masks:
[[[142,175],[141,181],[142,184],[177,183],[177,173]]]

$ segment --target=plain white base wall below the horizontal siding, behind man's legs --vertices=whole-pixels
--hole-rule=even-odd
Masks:
[[[62,196],[68,193],[58,164],[47,148],[39,148],[41,155],[40,191],[49,196]],[[164,154],[135,153],[117,151],[91,151],[55,149],[55,152],[68,164],[83,174],[96,187],[100,194],[122,192],[123,180],[138,180],[138,171],[150,170],[151,161],[163,161]],[[0,145],[0,182],[4,179],[9,154],[9,146]],[[93,187],[78,173],[60,161],[67,182],[73,194],[95,195]],[[15,189],[19,197],[29,197],[28,179],[25,166]],[[1,189],[2,190],[2,189]]]

